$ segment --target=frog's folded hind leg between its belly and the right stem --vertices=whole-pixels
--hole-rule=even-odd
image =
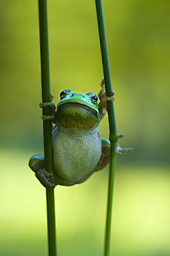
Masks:
[[[95,171],[103,169],[109,162],[111,143],[107,139],[101,139],[102,152]]]

